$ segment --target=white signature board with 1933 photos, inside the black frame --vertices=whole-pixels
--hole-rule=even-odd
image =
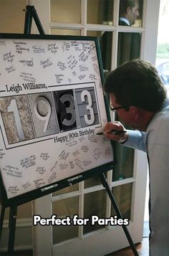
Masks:
[[[23,37],[23,36],[22,36]],[[113,161],[95,39],[0,37],[0,168],[7,197]]]

